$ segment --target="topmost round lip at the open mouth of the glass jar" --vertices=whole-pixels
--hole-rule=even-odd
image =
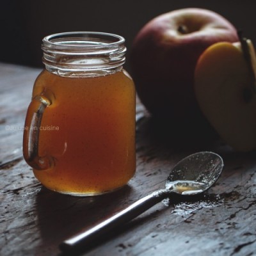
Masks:
[[[97,31],[72,31],[45,36],[42,47],[55,49],[106,49],[124,44],[123,36]]]

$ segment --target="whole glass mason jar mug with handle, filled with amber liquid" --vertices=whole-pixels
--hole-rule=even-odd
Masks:
[[[35,177],[69,195],[99,195],[134,175],[135,88],[122,36],[72,32],[43,40],[24,129]]]

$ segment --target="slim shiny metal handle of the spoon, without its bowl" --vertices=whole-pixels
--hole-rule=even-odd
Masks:
[[[168,189],[160,189],[158,191],[154,191],[150,195],[147,195],[134,202],[124,210],[117,212],[115,215],[102,221],[95,227],[92,227],[89,230],[81,232],[80,234],[77,234],[70,239],[63,241],[60,244],[60,249],[63,252],[68,252],[86,248],[86,246],[91,245],[93,241],[99,239],[100,236],[106,234],[121,224],[132,220],[153,205],[161,202],[168,195],[170,195],[170,191]]]

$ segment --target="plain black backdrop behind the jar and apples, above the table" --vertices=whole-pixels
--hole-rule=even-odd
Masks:
[[[171,10],[200,7],[220,13],[256,44],[254,0],[1,0],[0,61],[42,67],[42,38],[65,31],[122,35],[129,49],[152,18]]]

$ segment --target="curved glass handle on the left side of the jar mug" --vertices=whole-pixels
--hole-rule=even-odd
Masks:
[[[44,95],[37,95],[28,107],[23,136],[23,156],[26,162],[36,170],[46,170],[54,166],[53,157],[38,154],[42,117],[45,108],[51,104],[51,100]]]

